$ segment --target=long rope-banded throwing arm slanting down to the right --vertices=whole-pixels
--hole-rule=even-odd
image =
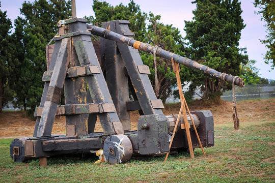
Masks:
[[[147,53],[154,54],[155,46],[152,46],[152,45],[149,45],[147,43],[140,42],[140,41],[136,41],[132,38],[122,36],[118,33],[109,31],[108,29],[98,27],[98,26],[95,26],[95,25],[87,24],[87,28],[93,35],[100,36],[100,37],[108,39],[108,40],[113,40],[113,41],[116,41],[118,43],[123,43],[123,44],[126,44],[128,46],[132,46],[135,49],[145,51]],[[235,85],[238,85],[240,87],[242,87],[244,85],[243,80],[238,76],[232,76],[230,74],[218,72],[218,71],[216,71],[216,70],[214,70],[210,67],[199,64],[199,63],[195,62],[194,60],[191,60],[189,58],[180,56],[180,55],[172,53],[170,51],[166,51],[166,50],[164,50],[160,47],[156,48],[155,54],[156,54],[156,56],[166,58],[166,59],[169,59],[169,60],[172,60],[172,58],[173,58],[173,60],[175,62],[177,62],[179,64],[182,64],[182,65],[184,65],[188,68],[201,70],[201,71],[209,74],[210,76],[219,78],[221,80],[224,80],[224,81],[227,81],[227,82],[230,82],[230,83],[233,83],[233,80],[235,78],[235,81],[234,81]]]

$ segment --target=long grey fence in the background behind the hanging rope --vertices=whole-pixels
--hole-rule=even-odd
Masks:
[[[236,86],[236,99],[256,99],[275,97],[275,84],[251,84],[243,87]],[[232,101],[232,90],[228,90],[221,96],[223,100]]]

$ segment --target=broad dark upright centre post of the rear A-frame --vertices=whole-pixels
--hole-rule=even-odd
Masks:
[[[103,22],[102,27],[116,31],[115,21]],[[100,39],[104,56],[102,61],[106,69],[106,82],[124,131],[131,130],[130,113],[126,110],[126,101],[129,101],[128,76],[123,59],[118,51],[116,42]]]

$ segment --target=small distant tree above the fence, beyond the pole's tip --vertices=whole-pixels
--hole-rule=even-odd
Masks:
[[[259,76],[259,69],[254,64],[256,60],[249,60],[246,65],[241,65],[240,77],[245,84],[268,84],[268,79]]]

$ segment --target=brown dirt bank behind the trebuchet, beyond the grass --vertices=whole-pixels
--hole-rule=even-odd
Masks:
[[[177,114],[180,104],[165,105],[163,113]],[[215,124],[233,123],[232,103],[222,101],[221,104],[207,105],[201,101],[189,104],[190,110],[210,110]],[[275,99],[248,100],[237,102],[238,115],[241,121],[265,121],[275,119]],[[131,129],[137,127],[138,111],[131,111]],[[32,136],[35,121],[25,116],[23,111],[3,112],[0,114],[0,137]],[[102,132],[99,120],[96,123],[96,132]],[[65,133],[65,116],[57,116],[53,125],[53,134]]]

